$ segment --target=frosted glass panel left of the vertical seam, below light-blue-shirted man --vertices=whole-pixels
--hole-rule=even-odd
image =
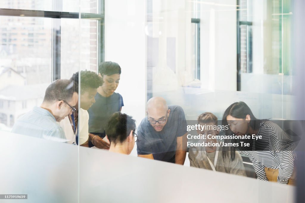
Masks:
[[[0,131],[1,194],[27,194],[27,200],[77,202],[77,146]]]

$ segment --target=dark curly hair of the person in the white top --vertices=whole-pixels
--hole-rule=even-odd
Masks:
[[[78,91],[78,75],[76,72],[70,78],[71,81],[74,82],[76,91]],[[81,94],[87,91],[89,88],[98,88],[103,85],[103,80],[93,71],[81,71]]]

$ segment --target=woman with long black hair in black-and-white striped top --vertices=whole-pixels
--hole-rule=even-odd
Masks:
[[[253,134],[262,139],[231,140],[243,141],[248,146],[239,146],[240,153],[249,156],[257,178],[281,184],[294,184],[296,173],[293,161],[295,159],[294,143],[289,135],[277,124],[269,120],[255,118],[250,108],[244,102],[231,104],[222,119],[222,125],[229,125],[226,135],[244,136]],[[235,147],[228,147],[224,156],[235,154]]]

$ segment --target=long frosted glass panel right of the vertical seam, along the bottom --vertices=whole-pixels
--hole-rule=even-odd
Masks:
[[[84,147],[80,161],[80,202],[293,201],[291,186],[163,161]]]

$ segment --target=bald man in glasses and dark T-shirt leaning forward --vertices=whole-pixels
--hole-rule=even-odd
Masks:
[[[187,135],[183,109],[167,106],[162,97],[152,97],[146,113],[138,126],[138,156],[183,165]]]

